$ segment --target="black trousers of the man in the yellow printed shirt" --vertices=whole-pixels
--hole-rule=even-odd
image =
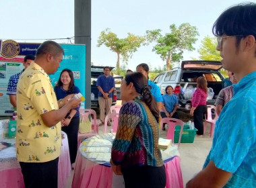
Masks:
[[[57,188],[59,157],[48,162],[20,162],[26,188]]]

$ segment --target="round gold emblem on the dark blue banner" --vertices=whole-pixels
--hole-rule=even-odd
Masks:
[[[1,55],[4,58],[14,58],[20,53],[20,46],[14,40],[5,40],[2,44]]]

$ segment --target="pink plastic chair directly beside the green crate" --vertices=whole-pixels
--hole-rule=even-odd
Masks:
[[[181,131],[180,131],[180,136],[179,136],[179,142],[178,142],[178,147],[181,143],[181,136],[183,132],[183,127],[184,127],[184,122],[175,118],[162,118],[161,121],[161,128],[163,124],[168,125],[168,132],[167,132],[167,139],[171,139],[172,143],[174,143],[174,132],[175,132],[175,127],[176,126],[181,126]]]

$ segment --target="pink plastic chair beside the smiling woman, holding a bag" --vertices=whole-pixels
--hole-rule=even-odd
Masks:
[[[92,115],[93,117],[92,117],[92,120],[91,120],[92,131],[88,132],[88,133],[79,133],[78,132],[78,136],[77,136],[77,146],[78,147],[79,147],[79,144],[81,143],[82,138],[90,138],[92,136],[96,136],[98,134],[97,129],[98,129],[98,126],[99,126],[99,123],[96,120],[96,118],[97,118],[96,111],[94,111],[93,109],[79,109],[79,113],[81,115],[86,115],[87,117],[89,115]]]

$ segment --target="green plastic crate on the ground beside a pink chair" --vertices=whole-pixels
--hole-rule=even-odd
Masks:
[[[175,133],[174,133],[174,143],[179,142],[180,132],[181,132],[181,126],[176,126]],[[197,132],[196,128],[191,130],[189,129],[189,125],[184,125],[182,136],[181,136],[181,143],[193,143],[196,132]]]

